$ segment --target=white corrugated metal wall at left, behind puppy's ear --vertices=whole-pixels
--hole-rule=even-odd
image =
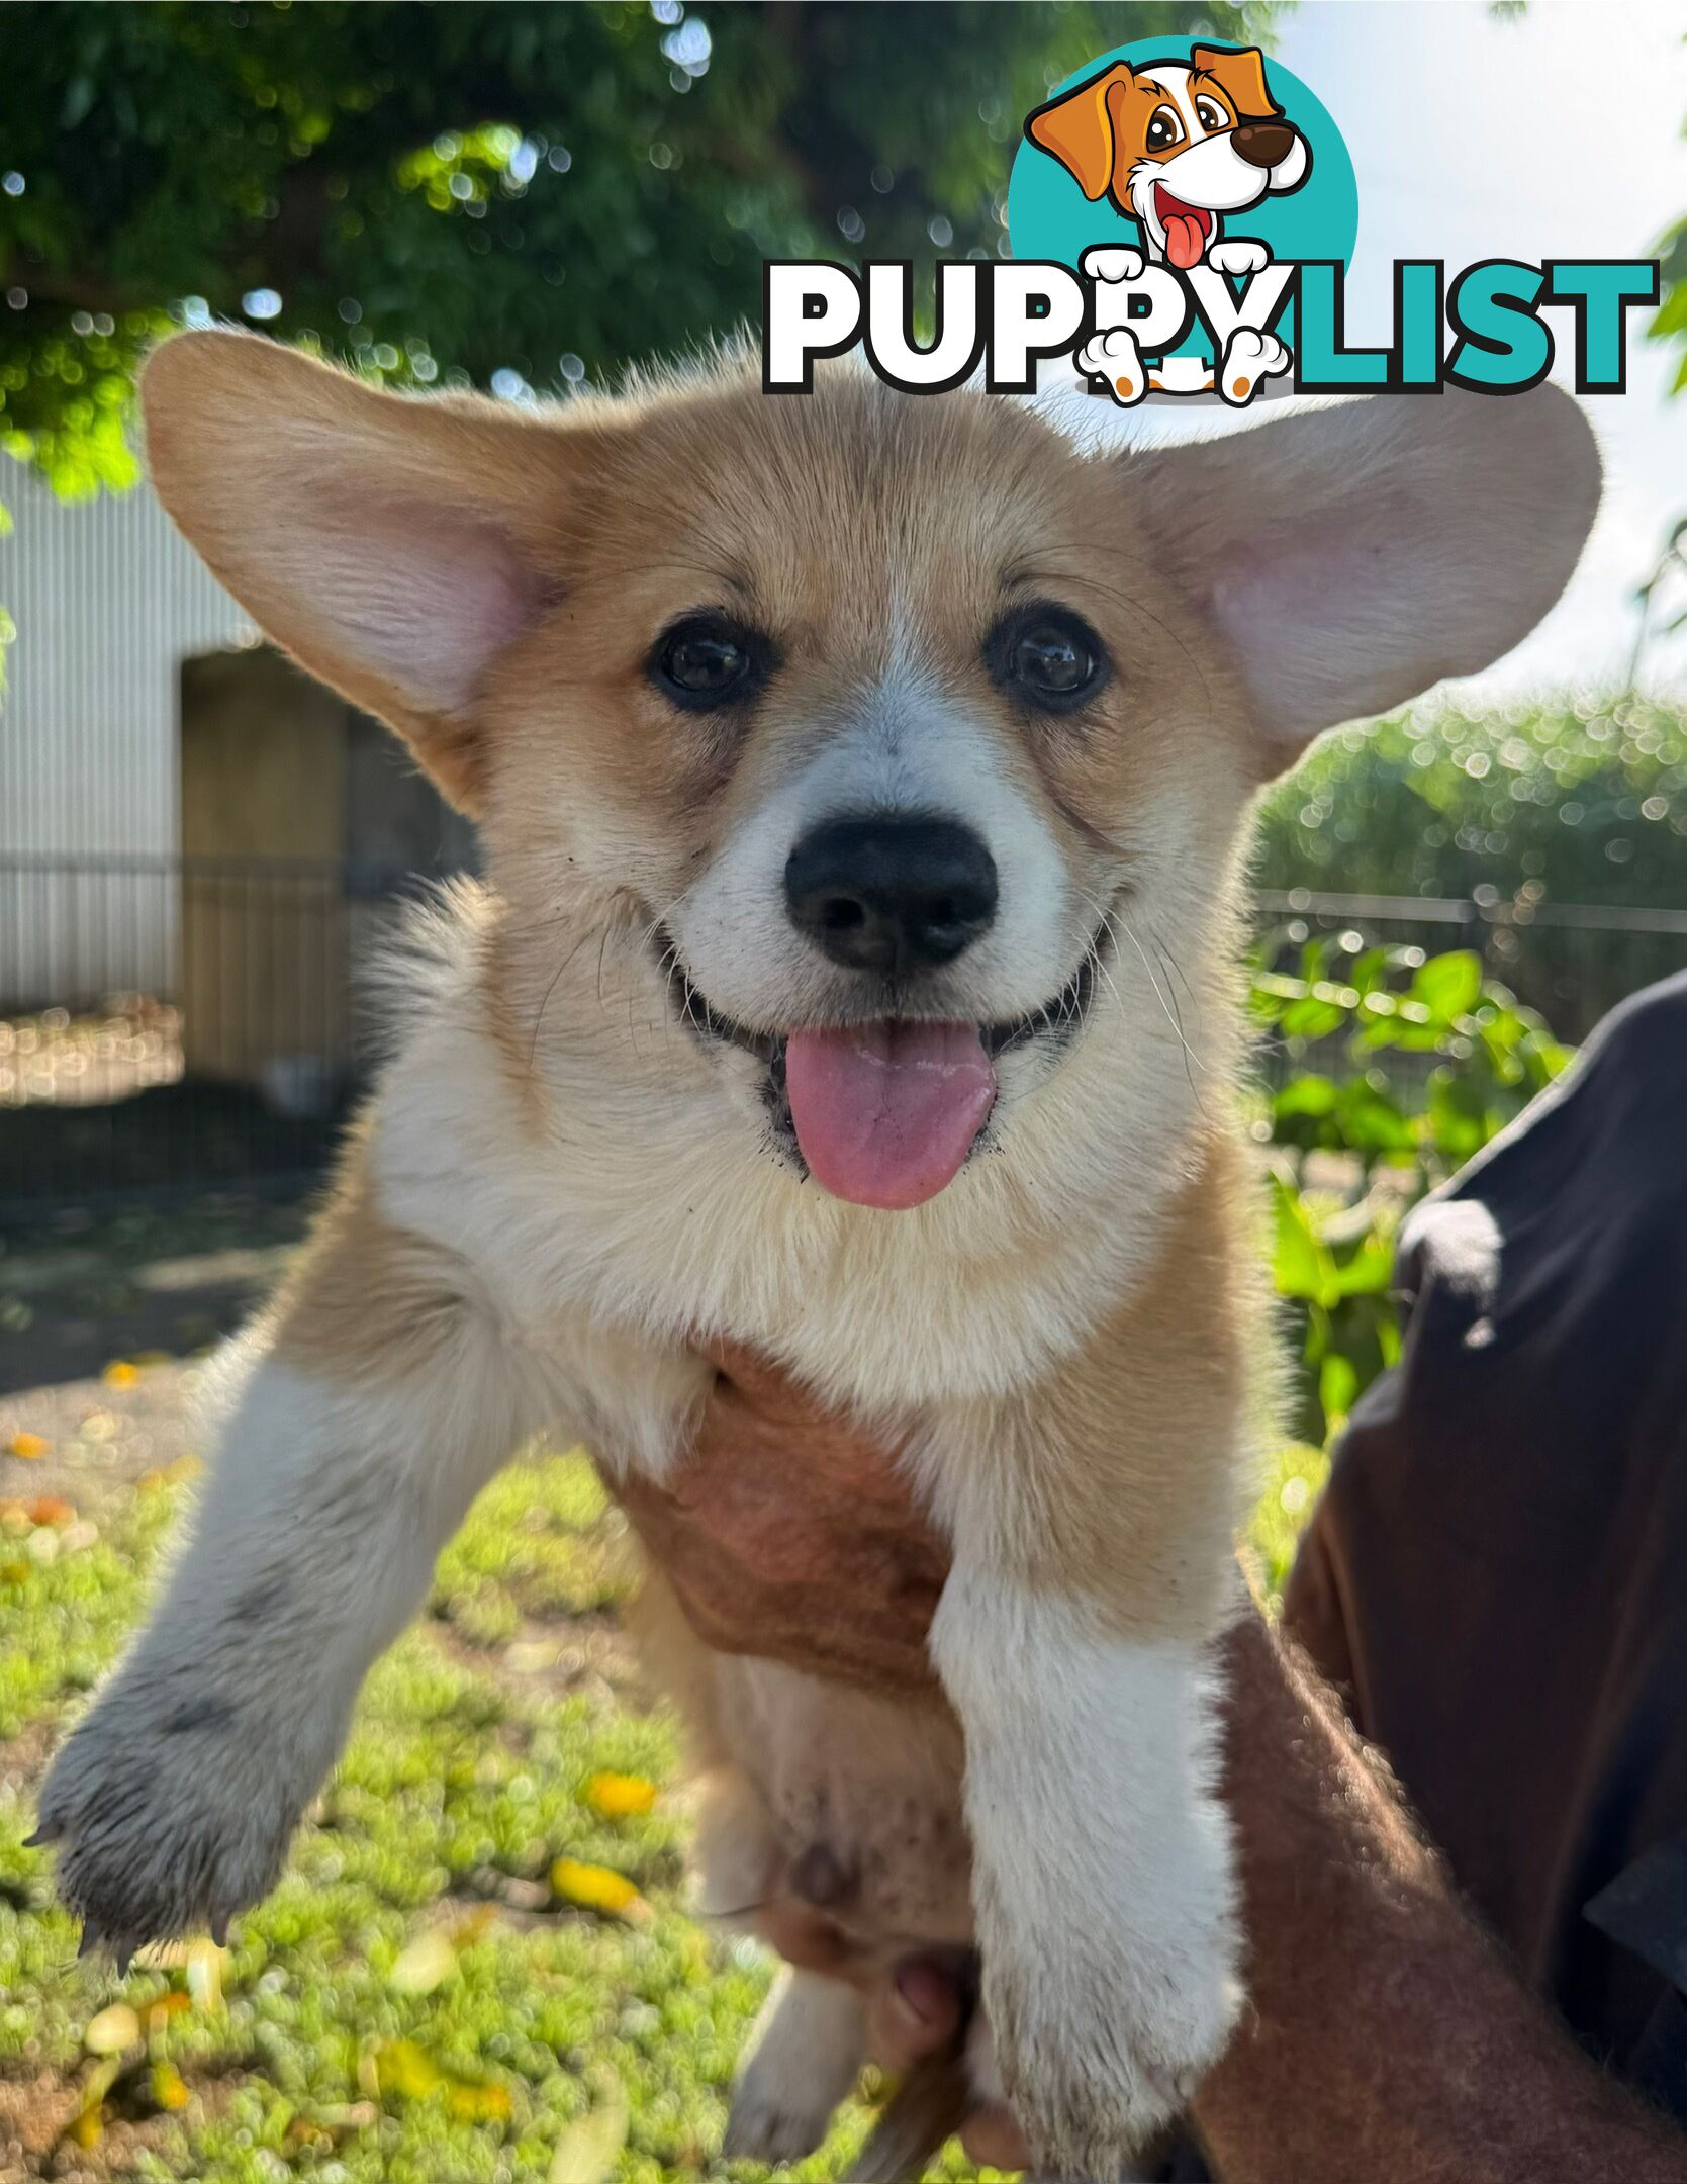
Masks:
[[[0,603],[17,622],[0,701],[0,1000],[168,992],[179,668],[249,642],[251,625],[146,485],[61,502],[4,461],[0,500]]]

